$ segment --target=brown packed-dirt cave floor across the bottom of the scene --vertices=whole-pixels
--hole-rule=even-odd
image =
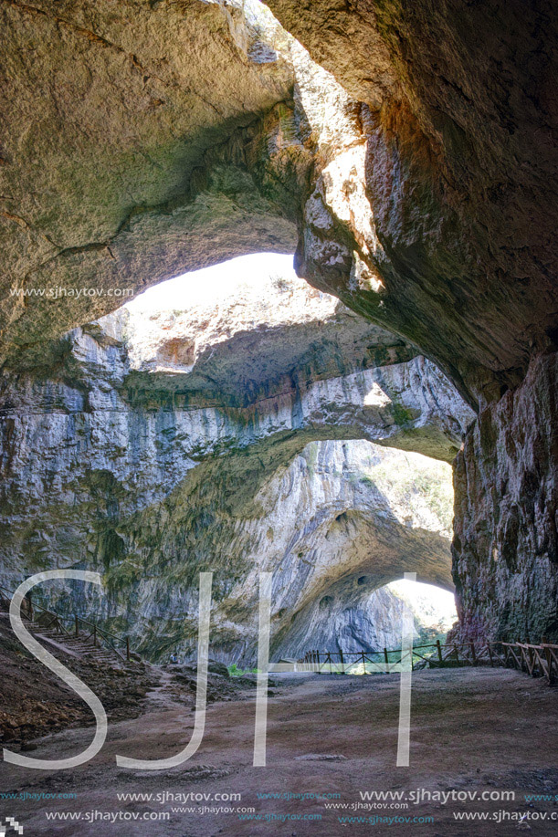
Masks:
[[[263,834],[343,835],[353,832],[492,835],[518,829],[556,832],[558,817],[556,720],[558,689],[542,680],[504,669],[452,669],[413,675],[410,767],[396,768],[398,675],[319,676],[287,679],[268,702],[268,767],[252,766],[252,700],[208,707],[205,737],[193,759],[180,768],[144,773],[118,768],[115,755],[143,759],[171,756],[189,740],[194,714],[171,696],[154,693],[141,717],[118,721],[100,754],[78,769],[44,772],[0,765],[0,788],[27,794],[76,794],[75,799],[0,799],[2,816],[16,816],[25,835],[95,837],[210,837]],[[73,728],[40,739],[35,758],[53,759],[85,748],[91,727]],[[325,758],[324,758],[325,757]],[[330,758],[327,758],[330,757]],[[356,809],[360,791],[432,793],[456,790],[514,791],[513,801],[427,798],[398,809]],[[170,794],[208,794],[205,800],[174,800]],[[117,794],[153,794],[151,800],[118,800]],[[241,800],[226,801],[226,794]],[[278,797],[262,800],[258,794]],[[222,794],[223,800],[215,795]],[[309,798],[301,800],[300,795]],[[317,800],[320,794],[340,794]],[[554,795],[556,801],[525,800],[525,794]],[[213,796],[212,796],[213,795]],[[297,798],[299,795],[299,798]],[[162,800],[164,797],[164,801]],[[554,798],[554,797],[553,797]],[[325,805],[347,805],[326,809]],[[385,802],[380,802],[385,805]],[[390,801],[388,805],[392,804]],[[395,802],[400,806],[401,802]],[[530,807],[531,805],[531,807]],[[183,811],[176,811],[181,806]],[[200,813],[199,808],[209,811]],[[173,811],[173,808],[175,811]],[[192,811],[187,811],[190,808]],[[221,811],[216,812],[217,809]],[[260,820],[239,817],[254,809]],[[48,812],[81,812],[81,821],[47,821]],[[134,812],[141,817],[168,811],[168,821],[110,822],[90,812]],[[456,821],[458,812],[508,812],[504,821]],[[150,813],[153,812],[153,813]],[[518,824],[520,814],[531,824]],[[244,814],[250,816],[250,812]],[[316,818],[321,816],[321,820]],[[287,819],[304,817],[306,820]],[[310,816],[313,819],[310,819]],[[432,817],[433,822],[342,822],[342,817]],[[499,815],[500,816],[500,815]],[[504,814],[503,816],[506,816]]]

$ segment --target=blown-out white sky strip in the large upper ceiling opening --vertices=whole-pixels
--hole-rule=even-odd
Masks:
[[[240,289],[248,294],[250,290],[258,291],[273,276],[300,282],[292,267],[292,256],[256,253],[168,279],[132,299],[126,308],[133,311],[187,310],[189,306],[212,299],[236,296]]]

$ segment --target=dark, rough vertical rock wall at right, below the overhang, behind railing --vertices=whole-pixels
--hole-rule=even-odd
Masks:
[[[479,414],[455,466],[461,631],[558,641],[558,357]]]

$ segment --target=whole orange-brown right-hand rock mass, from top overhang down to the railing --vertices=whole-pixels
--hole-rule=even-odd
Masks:
[[[268,5],[361,102],[362,146],[327,162],[305,205],[300,273],[479,405],[456,472],[463,622],[556,639],[555,9]]]

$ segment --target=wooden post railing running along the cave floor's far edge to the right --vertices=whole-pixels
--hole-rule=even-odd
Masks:
[[[408,654],[407,654],[408,660]],[[311,667],[318,674],[351,674],[355,667],[363,666],[363,671],[373,674],[377,671],[389,673],[393,666],[399,670],[403,662],[401,649],[388,651],[318,651],[312,650],[304,654],[299,664]],[[480,642],[468,643],[426,643],[413,646],[411,668],[416,666],[442,668],[451,665],[503,665],[518,668],[533,677],[545,677],[549,684],[553,684],[558,675],[558,645],[542,642],[532,643],[502,643]]]

